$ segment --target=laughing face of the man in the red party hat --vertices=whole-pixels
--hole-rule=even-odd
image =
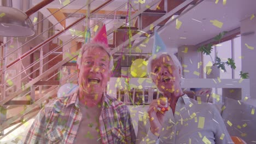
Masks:
[[[111,75],[109,62],[108,53],[100,47],[83,53],[78,68],[79,91],[83,91],[83,97],[91,97],[89,99],[96,101],[101,99]]]

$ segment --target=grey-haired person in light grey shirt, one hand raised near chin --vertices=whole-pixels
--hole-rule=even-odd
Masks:
[[[153,100],[146,119],[138,122],[136,143],[233,143],[216,107],[182,92],[181,71],[172,53],[158,52],[149,58],[149,75],[164,98]],[[168,111],[162,111],[165,98]]]

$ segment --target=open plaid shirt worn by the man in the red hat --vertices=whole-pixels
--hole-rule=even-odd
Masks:
[[[74,143],[82,121],[78,102],[77,91],[45,105],[24,143]],[[103,96],[99,124],[102,143],[135,143],[129,109],[109,95]]]

